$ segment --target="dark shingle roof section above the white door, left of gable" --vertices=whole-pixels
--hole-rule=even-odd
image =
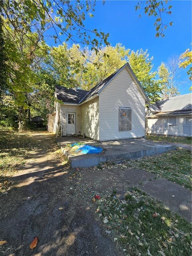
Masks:
[[[88,93],[88,91],[80,89],[67,89],[66,87],[56,85],[55,86],[57,99],[68,103],[79,103],[79,101]]]

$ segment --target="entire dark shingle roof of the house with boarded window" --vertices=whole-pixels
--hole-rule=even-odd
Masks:
[[[113,74],[111,74],[110,76],[105,78],[103,81],[98,83],[90,91],[71,89],[71,88],[67,89],[66,87],[58,86],[58,85],[55,86],[57,99],[67,103],[76,103],[76,104],[83,103],[89,98],[99,94],[105,88],[105,86],[109,82],[111,82],[111,80],[115,78],[116,75],[118,75],[119,72],[121,72],[125,67],[127,67],[128,70],[130,71],[130,75],[132,76],[133,80],[137,84],[145,100],[149,102],[149,98],[147,97],[145,91],[143,90],[143,87],[141,86],[140,82],[136,78],[128,62],[125,65],[123,65],[121,68],[119,68],[117,71],[115,71]]]

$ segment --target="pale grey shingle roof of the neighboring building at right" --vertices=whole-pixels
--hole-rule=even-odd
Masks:
[[[173,112],[192,110],[192,93],[183,94],[169,99],[159,100],[149,105],[151,112]]]

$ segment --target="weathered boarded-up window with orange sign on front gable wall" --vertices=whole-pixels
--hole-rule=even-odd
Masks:
[[[131,130],[131,109],[119,108],[119,131]]]

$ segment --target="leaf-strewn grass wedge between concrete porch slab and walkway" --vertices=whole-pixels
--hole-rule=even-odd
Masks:
[[[177,149],[164,154],[130,160],[127,167],[145,169],[191,190],[191,152]]]

